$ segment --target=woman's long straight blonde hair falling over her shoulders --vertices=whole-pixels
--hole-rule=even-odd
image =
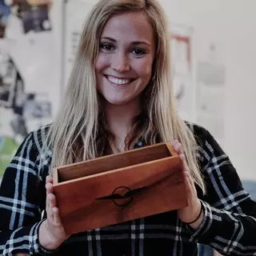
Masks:
[[[53,151],[51,168],[96,158],[111,151],[102,101],[96,90],[94,65],[98,42],[108,19],[125,11],[143,10],[156,34],[156,58],[146,102],[134,120],[130,134],[142,134],[146,144],[178,139],[186,155],[186,167],[205,192],[198,168],[197,143],[174,106],[170,76],[170,33],[162,7],[156,0],[100,0],[86,19],[78,53],[60,111],[50,126],[44,150]],[[129,144],[132,141],[130,138]]]

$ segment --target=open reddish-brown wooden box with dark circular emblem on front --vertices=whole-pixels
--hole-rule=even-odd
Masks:
[[[170,143],[54,169],[67,234],[187,206],[182,162]]]

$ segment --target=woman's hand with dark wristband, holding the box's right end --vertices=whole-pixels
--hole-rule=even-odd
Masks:
[[[183,177],[184,182],[186,186],[186,197],[188,200],[188,206],[183,209],[178,210],[178,218],[182,220],[182,222],[190,223],[190,226],[194,229],[197,229],[198,226],[202,223],[202,219],[204,217],[203,210],[201,211],[201,202],[198,199],[197,190],[194,186],[194,181],[191,178],[190,174],[187,172],[185,167],[185,156],[182,154],[182,145],[178,141],[174,141],[172,143],[172,146],[174,147],[174,150],[178,153],[179,158],[183,162]],[[201,213],[200,217],[198,218],[198,215]],[[198,218],[196,222],[194,220]]]

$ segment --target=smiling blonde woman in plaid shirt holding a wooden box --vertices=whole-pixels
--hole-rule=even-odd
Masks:
[[[178,117],[169,56],[156,0],[96,4],[61,111],[27,136],[2,180],[1,254],[195,255],[197,242],[226,255],[256,254],[256,204],[210,133]],[[162,141],[182,159],[185,209],[65,234],[53,167]]]

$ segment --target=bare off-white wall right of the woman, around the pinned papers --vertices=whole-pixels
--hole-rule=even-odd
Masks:
[[[193,28],[194,74],[211,42],[226,65],[224,150],[243,179],[256,180],[256,2],[254,0],[159,0],[170,22]],[[194,87],[196,78],[194,75]],[[196,113],[194,113],[196,115]]]

